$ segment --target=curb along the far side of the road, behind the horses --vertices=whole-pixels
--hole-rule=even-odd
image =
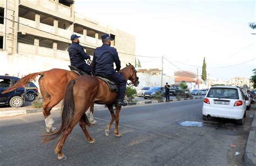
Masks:
[[[199,98],[187,98],[187,99],[171,99],[170,102],[174,101],[183,101],[183,100],[193,100],[193,99],[202,99],[202,97]],[[146,105],[150,103],[164,103],[165,100],[151,100],[151,101],[138,101],[138,102],[130,102],[130,106],[134,105]],[[52,110],[57,110],[60,109],[61,107],[55,107],[52,108]],[[106,108],[106,105],[95,105],[95,109],[100,109],[100,108]],[[29,114],[29,113],[37,113],[37,112],[42,112],[42,108],[37,108],[37,109],[18,109],[18,110],[3,110],[0,111],[0,117],[11,117],[11,116],[16,116],[16,115],[23,115],[23,114]],[[256,121],[256,120],[255,120]]]

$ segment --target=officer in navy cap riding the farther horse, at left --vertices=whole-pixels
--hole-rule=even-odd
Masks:
[[[75,66],[79,70],[91,75],[91,66],[85,63],[85,59],[90,59],[89,54],[84,52],[83,47],[79,44],[79,37],[76,34],[72,34],[70,39],[72,44],[69,46],[69,58],[71,66]]]

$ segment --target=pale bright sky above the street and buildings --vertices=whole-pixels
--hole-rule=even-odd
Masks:
[[[210,77],[250,78],[256,68],[255,1],[76,0],[75,11],[136,37],[142,67],[164,73],[201,74],[203,59]],[[256,30],[255,30],[256,31]],[[226,67],[230,66],[230,67]]]

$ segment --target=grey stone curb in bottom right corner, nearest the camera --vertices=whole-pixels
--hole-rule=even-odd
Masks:
[[[256,131],[256,116],[252,121],[251,130],[245,147],[245,165],[256,165],[256,144],[255,144],[255,131]]]

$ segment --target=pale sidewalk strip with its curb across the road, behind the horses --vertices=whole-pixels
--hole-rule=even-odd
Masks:
[[[174,101],[183,101],[183,100],[193,100],[193,99],[202,99],[203,97],[198,98],[187,98],[187,99],[171,99],[170,102]],[[150,103],[163,103],[165,100],[143,100],[138,102],[131,102],[128,106],[134,106],[134,105],[145,105]],[[60,110],[61,105],[57,105],[52,108],[52,110]],[[100,108],[106,108],[106,105],[97,105],[94,106],[95,109]],[[0,117],[10,117],[10,116],[16,116],[16,115],[23,115],[23,114],[29,114],[29,113],[36,113],[36,112],[42,112],[42,108],[32,108],[31,106],[26,107],[20,107],[20,108],[0,108]]]

